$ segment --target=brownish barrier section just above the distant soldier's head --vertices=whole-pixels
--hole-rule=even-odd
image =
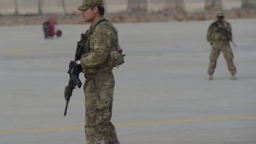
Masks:
[[[208,11],[220,11],[222,10],[222,1],[221,0],[205,0],[204,9]]]

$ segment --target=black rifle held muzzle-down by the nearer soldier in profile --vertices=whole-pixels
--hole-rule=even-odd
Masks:
[[[80,65],[80,63],[78,63],[77,61],[81,59],[82,54],[84,53],[83,46],[87,40],[87,37],[85,34],[82,34],[81,37],[82,37],[82,40],[77,42],[75,60],[74,61],[71,60],[69,63],[69,69],[68,69],[69,82],[68,82],[68,86],[65,87],[65,91],[67,89],[67,93],[65,94],[66,108],[65,108],[64,116],[67,115],[68,103],[73,93],[73,89],[75,89],[76,86],[78,88],[82,86],[82,82],[79,79],[79,74],[82,72],[83,68]]]

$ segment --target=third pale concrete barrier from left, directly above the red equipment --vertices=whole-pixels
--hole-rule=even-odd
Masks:
[[[42,14],[65,14],[63,2],[62,0],[41,0]]]

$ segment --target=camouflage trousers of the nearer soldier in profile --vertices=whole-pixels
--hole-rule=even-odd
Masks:
[[[86,79],[84,92],[87,144],[118,144],[115,127],[110,122],[114,92],[113,74]]]

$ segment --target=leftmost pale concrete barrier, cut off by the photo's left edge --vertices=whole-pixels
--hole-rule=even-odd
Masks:
[[[0,14],[1,15],[15,14],[15,0],[1,0]]]

